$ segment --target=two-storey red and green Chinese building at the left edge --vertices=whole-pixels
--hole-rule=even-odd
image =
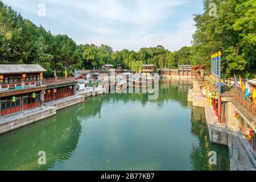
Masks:
[[[38,64],[0,64],[0,117],[42,105],[44,72]]]

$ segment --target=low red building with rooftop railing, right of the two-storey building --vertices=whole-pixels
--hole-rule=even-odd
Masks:
[[[44,92],[44,102],[74,96],[76,94],[77,82],[78,81],[75,77],[44,79],[43,84],[46,85],[46,91]]]

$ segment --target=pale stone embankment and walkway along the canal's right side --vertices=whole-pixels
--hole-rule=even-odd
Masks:
[[[233,113],[239,110],[242,117],[251,121],[255,117],[243,109],[236,100],[233,93],[228,91],[221,94],[222,101],[226,102],[226,123],[219,123],[213,106],[209,105],[209,101],[202,92],[204,83],[202,81],[193,80],[193,89],[189,89],[188,102],[192,102],[193,106],[204,107],[208,133],[212,143],[223,144],[229,147],[229,159],[231,171],[247,171],[255,170],[256,155],[248,140],[239,131],[238,122],[233,117]]]

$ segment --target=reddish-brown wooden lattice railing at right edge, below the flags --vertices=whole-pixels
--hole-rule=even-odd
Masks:
[[[253,104],[250,98],[243,98],[245,95],[242,92],[235,93],[235,99],[243,106],[247,111],[256,116],[256,105]]]

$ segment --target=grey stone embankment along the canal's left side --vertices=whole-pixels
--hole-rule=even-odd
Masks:
[[[2,117],[0,121],[0,135],[19,129],[20,127],[29,125],[31,123],[41,121],[42,119],[52,117],[53,115],[56,115],[57,110],[79,104],[84,102],[86,97],[97,96],[99,94],[104,94],[105,92],[105,88],[95,88],[93,90],[93,88],[89,87],[86,90],[77,91],[76,96],[69,96],[60,98],[58,100],[45,102],[44,106],[42,107],[37,107],[36,109],[25,110],[20,113]]]

